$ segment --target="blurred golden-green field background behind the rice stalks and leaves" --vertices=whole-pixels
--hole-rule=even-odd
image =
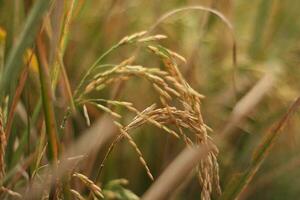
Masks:
[[[32,1],[0,0],[0,26],[7,32],[5,49],[10,49],[17,38]],[[126,35],[147,30],[163,14],[183,6],[202,5],[213,8],[231,22],[237,43],[237,68],[232,64],[233,38],[220,19],[209,12],[189,10],[177,13],[160,23],[154,33],[168,39],[161,44],[187,59],[179,68],[186,80],[199,93],[205,95],[202,114],[205,123],[217,135],[222,132],[236,103],[266,75],[272,82],[258,103],[232,128],[230,138],[220,149],[221,186],[247,169],[254,149],[271,126],[286,112],[300,91],[300,2],[295,0],[79,0],[70,26],[69,43],[65,53],[65,66],[74,89],[83,73],[105,50]],[[55,38],[55,37],[53,37]],[[0,41],[1,43],[1,41]],[[51,44],[51,42],[50,42]],[[104,63],[120,63],[133,55],[136,47],[124,47],[107,57]],[[143,66],[160,65],[147,51],[139,51],[136,63]],[[235,87],[233,75],[235,74]],[[33,110],[39,97],[38,75],[32,69],[22,97],[26,110]],[[64,102],[62,90],[57,92],[57,110]],[[97,96],[109,99],[112,90]],[[27,95],[28,96],[28,95]],[[150,84],[140,79],[127,82],[119,100],[134,102],[144,109],[158,101]],[[88,107],[92,121],[103,113]],[[124,123],[132,115],[120,110]],[[128,117],[126,118],[126,115]],[[58,114],[59,119],[63,113]],[[14,127],[23,127],[16,116]],[[19,120],[18,120],[19,119]],[[69,123],[68,131],[78,135],[85,129],[84,121]],[[300,195],[300,113],[291,118],[242,199],[298,199]],[[18,128],[12,130],[19,137]],[[179,142],[153,126],[144,126],[132,134],[142,150],[155,177],[184,148]],[[65,138],[67,140],[67,138]],[[94,152],[97,168],[105,148]],[[13,153],[13,152],[12,152]],[[8,157],[9,157],[8,153]],[[10,160],[8,158],[8,160]],[[13,165],[13,161],[10,161]],[[9,166],[9,165],[8,165]],[[96,171],[91,170],[91,176]],[[174,174],[174,176],[176,176]],[[126,178],[128,188],[142,195],[151,185],[138,157],[127,141],[122,141],[109,157],[101,177],[106,183]],[[200,189],[196,178],[191,178],[178,193],[177,199],[198,199]]]

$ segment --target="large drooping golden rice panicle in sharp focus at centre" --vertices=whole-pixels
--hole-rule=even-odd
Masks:
[[[140,32],[126,36],[118,45],[152,42],[165,38],[163,35],[143,37],[145,34],[146,32]],[[91,104],[103,112],[109,113],[115,119],[115,124],[119,128],[120,134],[109,147],[100,172],[114,146],[122,138],[125,138],[135,149],[141,164],[144,166],[148,176],[153,180],[153,175],[141,150],[130,136],[131,130],[149,123],[184,141],[189,147],[207,144],[213,146],[213,150],[201,160],[197,170],[198,180],[202,189],[201,199],[210,199],[213,192],[220,194],[221,189],[219,186],[219,167],[217,162],[218,149],[213,145],[213,141],[208,135],[208,130],[211,129],[205,125],[201,115],[200,100],[204,96],[195,91],[180,73],[176,60],[186,62],[184,57],[160,45],[146,44],[145,46],[160,58],[164,66],[162,69],[134,65],[134,57],[130,57],[120,64],[112,66],[111,69],[98,72],[92,76],[89,75],[91,78],[85,80],[83,92],[75,99],[79,105],[83,106],[84,116],[88,125],[90,124],[90,119],[85,105]],[[142,78],[151,83],[160,102],[153,102],[152,105],[139,111],[131,102],[89,98],[92,91],[102,90],[121,80],[129,81],[132,77]],[[114,106],[123,106],[136,116],[130,123],[123,125],[119,121],[122,118],[122,114],[115,112]]]

